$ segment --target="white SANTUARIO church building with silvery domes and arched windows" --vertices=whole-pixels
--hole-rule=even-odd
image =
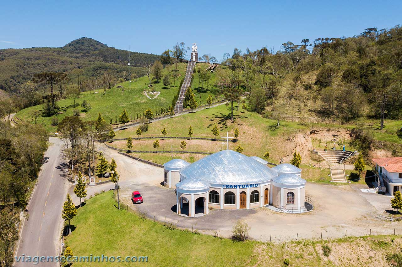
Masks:
[[[193,164],[180,162],[174,170],[170,166],[178,160],[171,160],[164,164],[164,184],[172,188],[177,174],[171,172],[178,172],[176,212],[181,216],[203,216],[209,208],[239,210],[267,206],[287,213],[310,211],[312,205],[307,207],[305,203],[306,180],[301,178],[301,170],[290,164],[269,168],[266,162],[232,150],[216,152]],[[167,176],[166,171],[170,172]]]

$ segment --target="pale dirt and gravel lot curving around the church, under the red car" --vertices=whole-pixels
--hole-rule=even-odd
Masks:
[[[172,221],[178,227],[199,229],[203,233],[229,237],[234,223],[240,218],[251,227],[250,237],[262,241],[288,241],[310,238],[335,238],[347,235],[374,235],[402,233],[402,225],[375,218],[383,214],[389,206],[389,197],[361,192],[365,185],[349,184],[335,186],[308,182],[306,195],[314,201],[314,210],[305,214],[283,214],[268,208],[252,210],[211,210],[207,216],[185,218],[175,213],[176,196],[174,190],[166,189],[160,183],[163,179],[162,168],[137,162],[107,149],[99,144],[98,150],[108,157],[114,157],[121,177],[121,199],[148,218],[159,221]],[[144,203],[133,205],[130,195],[139,190]]]

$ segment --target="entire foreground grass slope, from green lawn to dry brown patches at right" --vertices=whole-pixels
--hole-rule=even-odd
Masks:
[[[236,211],[233,211],[236,212]],[[283,243],[233,242],[168,229],[133,212],[117,210],[113,192],[94,196],[78,209],[74,231],[66,237],[74,256],[148,256],[151,266],[388,266],[385,256],[399,252],[398,235],[299,240]],[[323,255],[323,246],[329,255]],[[73,266],[131,266],[135,263],[74,263]]]

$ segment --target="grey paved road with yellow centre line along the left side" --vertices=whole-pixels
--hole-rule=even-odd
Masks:
[[[27,207],[29,219],[23,223],[16,256],[57,256],[62,228],[62,205],[67,193],[63,178],[62,140],[49,138],[45,152],[45,164],[41,168],[37,185]],[[15,266],[31,266],[32,263],[15,263]],[[57,263],[41,263],[38,266],[59,266]]]

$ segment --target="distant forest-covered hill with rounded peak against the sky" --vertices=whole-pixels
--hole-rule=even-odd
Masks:
[[[0,89],[16,92],[19,85],[42,71],[83,69],[83,75],[90,77],[112,70],[119,75],[128,71],[128,55],[127,50],[108,47],[87,37],[73,40],[64,47],[0,49]],[[134,67],[131,72],[142,76],[145,74],[143,67],[159,58],[158,55],[131,52],[131,66]]]

